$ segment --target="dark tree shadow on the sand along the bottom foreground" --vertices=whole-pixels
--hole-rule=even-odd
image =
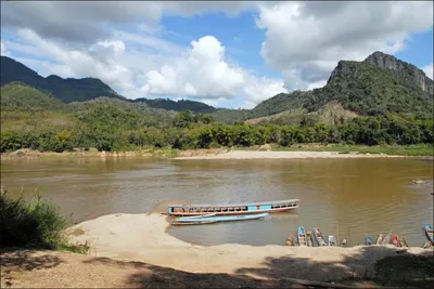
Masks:
[[[264,267],[239,268],[234,274],[194,274],[106,258],[86,262],[133,266],[137,273],[128,277],[126,286],[136,288],[339,288],[331,283],[349,286],[347,288],[433,288],[434,285],[433,251],[414,255],[405,249],[379,246],[363,247],[360,253],[345,257],[341,262],[315,262],[291,255],[267,258]]]

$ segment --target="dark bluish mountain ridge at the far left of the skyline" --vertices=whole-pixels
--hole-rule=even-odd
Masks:
[[[84,102],[99,96],[125,98],[97,78],[63,79],[59,76],[41,77],[24,64],[7,56],[1,56],[1,86],[20,81],[34,87],[62,102]]]

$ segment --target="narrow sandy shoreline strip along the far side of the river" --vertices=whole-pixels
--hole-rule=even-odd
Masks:
[[[278,147],[261,145],[253,147],[221,147],[199,149],[137,149],[127,152],[98,152],[75,149],[74,152],[39,152],[18,149],[2,153],[1,160],[15,159],[48,159],[48,158],[166,158],[176,160],[204,159],[330,159],[330,158],[419,158],[433,160],[434,152],[431,147],[368,147],[368,146],[336,146],[336,145],[298,145],[293,147]]]

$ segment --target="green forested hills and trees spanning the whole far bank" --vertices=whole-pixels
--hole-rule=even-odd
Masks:
[[[40,82],[29,84],[39,76],[21,67],[14,74],[21,71],[21,79],[27,82],[5,81],[1,87],[0,152],[186,149],[267,143],[283,147],[304,143],[432,145],[431,80],[419,81],[420,75],[411,78],[411,66],[406,67],[397,73],[368,61],[342,61],[324,88],[281,93],[254,109],[215,108],[193,101],[131,101],[116,95],[85,102],[78,96],[66,102],[54,90],[39,88]],[[2,67],[2,76],[3,71]],[[53,77],[47,79],[54,81]],[[55,81],[62,82],[59,79]],[[78,81],[77,87],[84,86],[81,92],[88,97],[92,83],[99,81]]]

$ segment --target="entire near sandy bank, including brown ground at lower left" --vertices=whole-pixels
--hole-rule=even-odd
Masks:
[[[169,224],[166,218],[157,213],[118,213],[82,222],[66,233],[73,244],[89,242],[88,255],[55,251],[18,252],[15,257],[5,254],[2,257],[2,265],[7,268],[3,280],[9,281],[10,287],[87,288],[154,288],[155,283],[159,288],[169,285],[173,288],[209,288],[210,285],[219,287],[222,285],[220,281],[232,288],[251,288],[270,287],[269,280],[275,280],[275,287],[277,281],[280,286],[293,288],[282,281],[288,278],[323,283],[366,279],[373,276],[374,263],[380,259],[430,253],[422,248],[393,246],[199,246],[167,234]],[[17,262],[17,258],[25,261]],[[31,265],[24,266],[26,262]],[[30,270],[20,270],[20,266]],[[138,276],[145,278],[148,286],[138,281]],[[197,276],[206,283],[194,283]],[[305,288],[297,286],[294,288]]]

